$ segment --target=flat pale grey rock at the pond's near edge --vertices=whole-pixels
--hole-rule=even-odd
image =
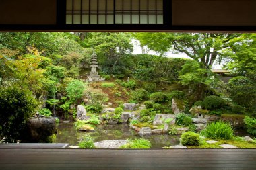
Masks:
[[[103,140],[94,143],[96,148],[120,148],[128,143],[128,140]]]

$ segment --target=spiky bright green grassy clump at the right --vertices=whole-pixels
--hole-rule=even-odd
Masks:
[[[203,136],[212,139],[232,139],[234,131],[229,123],[216,121],[207,124],[206,128],[201,132]]]

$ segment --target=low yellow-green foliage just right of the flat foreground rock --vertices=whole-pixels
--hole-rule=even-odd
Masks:
[[[151,148],[151,143],[144,138],[135,138],[134,140],[129,140],[129,142],[124,146],[121,146],[121,148]]]

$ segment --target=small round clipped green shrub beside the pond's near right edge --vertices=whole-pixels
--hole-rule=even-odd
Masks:
[[[195,132],[185,132],[181,135],[181,144],[184,146],[199,146],[201,144],[200,135]]]

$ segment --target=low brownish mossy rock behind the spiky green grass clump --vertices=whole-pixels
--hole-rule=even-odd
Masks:
[[[234,128],[243,128],[245,127],[244,115],[240,114],[222,114],[220,120],[224,122],[229,122]]]

